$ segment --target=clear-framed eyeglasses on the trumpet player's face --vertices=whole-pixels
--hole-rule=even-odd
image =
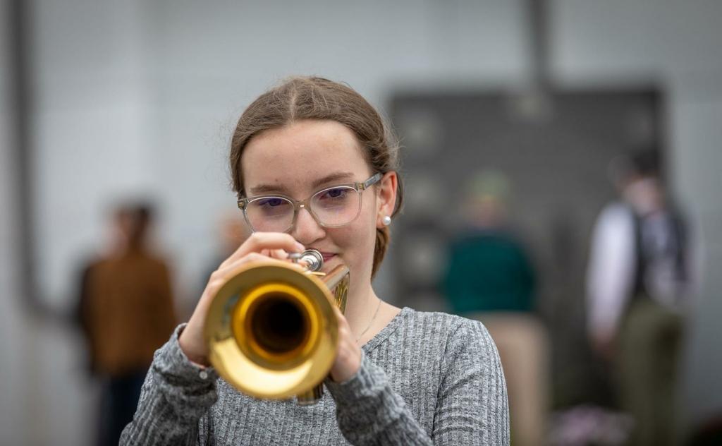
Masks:
[[[302,207],[319,225],[339,228],[358,217],[363,192],[381,177],[381,173],[375,173],[366,181],[327,187],[301,201],[284,195],[243,198],[238,200],[238,208],[243,210],[243,217],[253,232],[290,231]]]

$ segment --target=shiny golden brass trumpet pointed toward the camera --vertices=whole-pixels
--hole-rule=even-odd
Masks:
[[[292,254],[295,265],[249,262],[230,275],[212,299],[204,339],[218,374],[241,392],[308,406],[323,395],[336,356],[349,268],[320,273],[315,249]]]

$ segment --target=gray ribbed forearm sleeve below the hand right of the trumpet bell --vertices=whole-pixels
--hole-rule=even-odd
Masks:
[[[346,382],[326,379],[336,402],[336,422],[356,446],[433,445],[421,425],[391,388],[386,372],[363,353],[359,371]]]

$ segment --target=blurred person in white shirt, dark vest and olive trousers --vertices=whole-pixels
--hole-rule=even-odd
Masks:
[[[610,168],[620,199],[602,210],[588,265],[588,333],[610,361],[622,409],[635,420],[631,445],[677,442],[674,412],[690,238],[661,181],[656,150]]]

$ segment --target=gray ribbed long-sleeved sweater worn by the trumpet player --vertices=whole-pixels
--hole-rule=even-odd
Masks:
[[[480,323],[404,308],[316,406],[255,400],[191,364],[178,327],[121,445],[509,445],[499,355]]]

